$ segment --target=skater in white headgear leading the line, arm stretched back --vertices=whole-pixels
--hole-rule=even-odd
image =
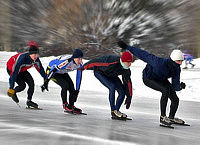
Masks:
[[[176,91],[185,89],[186,86],[185,83],[180,83],[180,65],[184,60],[182,52],[180,50],[173,50],[170,58],[160,58],[145,50],[128,46],[123,41],[119,41],[118,45],[124,50],[129,50],[133,55],[147,63],[143,70],[143,82],[146,86],[162,93],[160,99],[160,122],[167,125],[171,125],[172,122],[183,124],[184,121],[182,119],[175,118],[179,105]],[[171,83],[168,81],[169,78],[172,79]],[[166,116],[168,98],[171,100],[169,117]]]

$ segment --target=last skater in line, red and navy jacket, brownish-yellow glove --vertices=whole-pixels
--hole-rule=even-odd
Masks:
[[[28,107],[38,108],[38,104],[32,101],[35,86],[34,80],[27,71],[32,66],[34,66],[45,79],[46,74],[39,59],[38,45],[33,41],[29,44],[29,51],[27,53],[18,53],[12,56],[7,62],[7,72],[10,75],[7,94],[18,104],[19,99],[17,93],[23,91],[26,88],[26,84],[28,84],[29,88],[27,91],[28,96],[26,104]],[[18,84],[16,87],[15,82]]]

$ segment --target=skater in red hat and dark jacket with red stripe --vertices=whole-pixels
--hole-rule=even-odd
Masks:
[[[130,66],[133,62],[133,56],[130,52],[124,52],[120,56],[106,55],[100,58],[90,60],[85,63],[82,70],[94,70],[94,76],[109,89],[109,102],[111,115],[114,118],[126,118],[127,115],[119,111],[125,95],[127,96],[125,104],[129,109],[132,99],[132,83],[130,79]],[[122,75],[122,81],[119,79]],[[115,91],[118,92],[118,98],[115,102]]]

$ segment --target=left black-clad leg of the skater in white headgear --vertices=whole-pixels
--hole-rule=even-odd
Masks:
[[[160,109],[161,109],[161,116],[166,116],[166,107],[168,102],[168,97],[170,94],[170,83],[168,81],[156,81],[156,80],[150,80],[143,78],[143,82],[146,86],[156,90],[160,91],[162,93],[161,99],[160,99]]]

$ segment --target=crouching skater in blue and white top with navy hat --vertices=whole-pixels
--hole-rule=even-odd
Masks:
[[[72,56],[63,55],[57,59],[49,62],[47,66],[46,74],[47,78],[44,84],[41,86],[42,91],[48,90],[48,83],[53,80],[61,87],[61,98],[63,103],[63,109],[67,112],[82,113],[82,110],[75,107],[74,103],[77,100],[82,71],[78,68],[82,67],[83,52],[80,49],[75,49]],[[76,75],[76,89],[74,83],[70,78],[68,72],[77,70]],[[67,91],[69,91],[69,103],[67,102]]]

